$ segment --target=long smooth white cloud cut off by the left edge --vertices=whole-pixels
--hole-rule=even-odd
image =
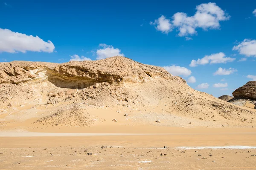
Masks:
[[[0,29],[0,52],[53,52],[54,49],[55,46],[50,40],[45,42],[38,36]]]

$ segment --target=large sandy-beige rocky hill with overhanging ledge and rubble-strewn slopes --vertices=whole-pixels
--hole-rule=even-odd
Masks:
[[[114,119],[120,125],[251,126],[256,115],[192,89],[161,67],[125,57],[0,63],[0,93],[3,126],[103,126]]]

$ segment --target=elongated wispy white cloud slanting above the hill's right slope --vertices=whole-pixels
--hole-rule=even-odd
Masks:
[[[225,57],[225,53],[219,52],[216,54],[206,55],[204,58],[198,58],[198,60],[192,60],[189,66],[196,67],[204,64],[215,64],[215,63],[227,63],[236,60],[236,58]]]

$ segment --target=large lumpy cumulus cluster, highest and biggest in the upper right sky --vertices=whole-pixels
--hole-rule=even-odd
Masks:
[[[178,36],[183,37],[197,34],[197,28],[219,29],[219,22],[229,19],[230,16],[216,3],[202,3],[196,6],[196,12],[193,16],[177,12],[172,16],[172,21],[162,15],[151,24],[156,25],[155,28],[163,33],[171,32],[173,28],[177,28]]]

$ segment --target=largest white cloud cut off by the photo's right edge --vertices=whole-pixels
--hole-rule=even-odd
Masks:
[[[246,55],[247,57],[256,57],[256,40],[244,39],[233,50],[239,51],[239,54]]]

